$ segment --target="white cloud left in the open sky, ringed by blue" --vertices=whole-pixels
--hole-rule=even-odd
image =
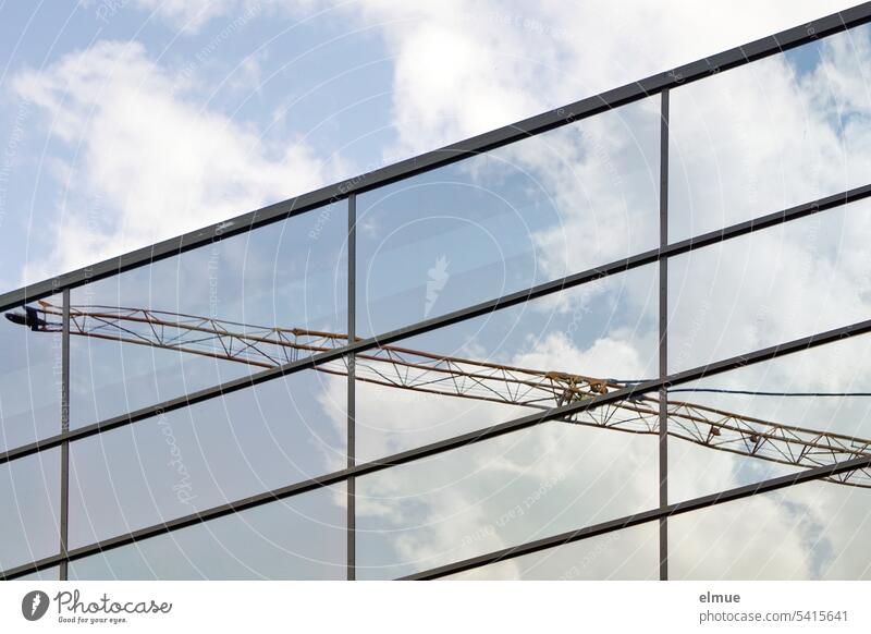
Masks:
[[[59,171],[61,221],[36,280],[198,229],[327,180],[304,143],[270,138],[209,110],[192,78],[136,42],[103,41],[13,87],[74,150]]]

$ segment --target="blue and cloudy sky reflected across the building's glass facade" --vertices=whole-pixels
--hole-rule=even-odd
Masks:
[[[861,62],[871,50],[870,28],[674,90],[672,240],[864,184],[871,99]],[[643,100],[360,195],[358,334],[655,247],[658,102]],[[344,204],[336,204],[78,289],[73,304],[343,333],[345,229]],[[871,205],[860,202],[674,258],[670,370],[867,319],[869,232]],[[649,266],[400,344],[637,380],[657,369],[657,296],[658,267]],[[10,446],[49,434],[60,405],[48,387],[54,385],[50,336],[4,324],[0,341],[14,353],[0,366],[0,414]],[[869,391],[867,343],[839,342],[695,387]],[[73,338],[71,364],[74,426],[252,371],[233,362],[90,338]],[[36,383],[47,388],[36,391]],[[299,373],[77,441],[73,545],[341,468],[346,388],[342,377]],[[682,392],[679,399],[871,437],[868,404],[858,397]],[[356,410],[360,461],[526,413],[366,383],[358,386]],[[673,501],[792,471],[680,441],[670,448]],[[650,436],[549,423],[360,478],[359,575],[408,574],[654,507],[655,450]],[[59,475],[48,460],[56,454],[44,454],[48,466],[25,459],[3,467],[5,503],[27,500],[21,521],[3,524],[3,568],[57,548]],[[820,483],[778,496],[675,520],[675,578],[868,576],[859,563],[867,542],[864,489]],[[343,504],[341,491],[321,491],[300,497],[291,511],[263,507],[83,560],[71,575],[342,577]],[[657,545],[643,533],[617,550],[605,548],[578,576],[649,578]],[[589,552],[580,552],[581,560]],[[516,562],[492,576],[559,578],[576,565],[568,565],[572,558],[564,563]]]

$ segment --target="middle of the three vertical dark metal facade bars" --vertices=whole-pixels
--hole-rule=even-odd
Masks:
[[[347,197],[347,341],[357,338],[357,196]],[[347,466],[356,465],[356,357],[347,356]],[[347,478],[347,581],[357,576],[356,479]]]

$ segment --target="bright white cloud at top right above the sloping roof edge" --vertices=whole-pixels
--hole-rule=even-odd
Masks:
[[[181,31],[252,5],[310,15],[307,0],[137,0]],[[394,125],[402,156],[480,134],[550,107],[845,9],[802,0],[785,12],[744,0],[711,4],[703,17],[687,0],[615,4],[602,0],[536,4],[493,0],[360,0],[317,5],[376,26],[394,65]]]

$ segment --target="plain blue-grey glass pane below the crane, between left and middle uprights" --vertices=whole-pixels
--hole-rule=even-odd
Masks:
[[[345,385],[308,370],[73,442],[70,544],[344,468]]]

